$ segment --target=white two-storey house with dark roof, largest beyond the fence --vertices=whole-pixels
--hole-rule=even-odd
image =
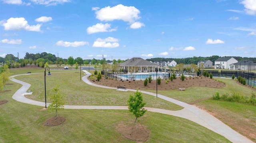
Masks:
[[[230,65],[237,62],[233,57],[219,57],[214,61],[214,69],[230,69]]]

